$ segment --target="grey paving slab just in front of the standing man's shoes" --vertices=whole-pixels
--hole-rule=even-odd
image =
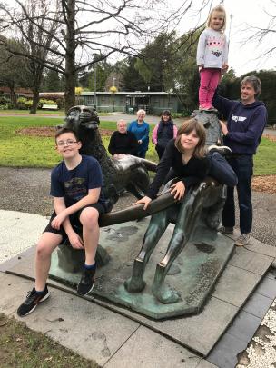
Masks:
[[[260,253],[256,256],[255,252],[242,246],[236,246],[228,264],[251,271],[254,274],[265,274],[272,262],[273,257],[271,256]]]

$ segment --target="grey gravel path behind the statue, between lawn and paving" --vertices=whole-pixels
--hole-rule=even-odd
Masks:
[[[0,167],[0,209],[30,214],[50,215],[51,170]],[[134,197],[125,194],[115,210],[133,204]],[[276,246],[276,194],[253,192],[254,229],[252,235],[262,243]]]

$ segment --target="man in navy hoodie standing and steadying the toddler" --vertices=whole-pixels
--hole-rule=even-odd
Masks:
[[[242,101],[232,101],[214,94],[212,105],[227,118],[221,122],[223,142],[231,148],[229,164],[238,176],[237,192],[240,207],[241,235],[236,245],[250,242],[252,229],[251,178],[253,155],[261,142],[261,134],[267,123],[265,104],[257,101],[261,94],[261,81],[254,75],[246,76],[241,83]],[[222,233],[232,234],[235,225],[233,188],[228,187],[227,200],[222,213]]]

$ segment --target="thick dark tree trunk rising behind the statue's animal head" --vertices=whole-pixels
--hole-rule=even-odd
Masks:
[[[64,87],[64,106],[65,113],[75,104],[75,31],[74,31],[74,15],[75,1],[68,0],[67,8],[67,29],[66,29],[66,55],[65,55],[65,87]]]

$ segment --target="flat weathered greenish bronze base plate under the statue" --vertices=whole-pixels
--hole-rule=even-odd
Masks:
[[[115,224],[101,229],[100,244],[111,259],[108,264],[98,268],[93,295],[122,304],[156,320],[199,313],[232,254],[232,239],[200,222],[191,241],[174,261],[171,272],[165,278],[165,283],[177,290],[182,300],[163,304],[155,299],[151,287],[156,264],[163,259],[173,234],[173,225],[163,234],[147,264],[143,292],[128,293],[123,286],[124,281],[132,275],[133,260],[140,250],[148,224],[149,219],[145,218],[138,222]],[[68,272],[61,269],[55,251],[50,277],[75,287],[79,283],[81,270]]]

